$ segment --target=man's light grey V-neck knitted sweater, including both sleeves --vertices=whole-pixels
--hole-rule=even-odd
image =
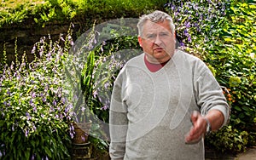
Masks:
[[[144,54],[119,72],[110,106],[112,159],[204,159],[203,139],[185,144],[193,111],[217,109],[229,117],[222,89],[205,63],[177,50],[164,67],[151,72]]]

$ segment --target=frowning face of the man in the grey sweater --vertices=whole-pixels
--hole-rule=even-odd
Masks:
[[[146,21],[142,36],[138,42],[151,63],[163,63],[169,60],[175,51],[175,35],[168,20],[154,23]]]

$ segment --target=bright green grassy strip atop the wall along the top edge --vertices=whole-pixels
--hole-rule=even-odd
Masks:
[[[0,27],[32,19],[40,26],[75,19],[96,20],[137,17],[150,9],[162,9],[166,0],[41,0],[0,4]],[[1,9],[2,8],[2,9]]]

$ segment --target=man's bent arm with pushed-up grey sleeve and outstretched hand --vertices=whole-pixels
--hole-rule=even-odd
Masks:
[[[185,138],[188,143],[200,140],[207,133],[207,123],[210,123],[211,131],[215,131],[228,123],[230,117],[230,107],[222,89],[212,72],[206,66],[202,68],[202,73],[195,80],[195,96],[201,113],[195,111],[191,115],[193,127]]]

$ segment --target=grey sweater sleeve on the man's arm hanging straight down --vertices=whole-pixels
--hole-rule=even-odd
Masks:
[[[127,107],[122,98],[124,85],[121,74],[117,77],[111,97],[109,111],[109,132],[111,143],[109,154],[111,159],[123,159],[125,156],[125,140],[128,129]]]

